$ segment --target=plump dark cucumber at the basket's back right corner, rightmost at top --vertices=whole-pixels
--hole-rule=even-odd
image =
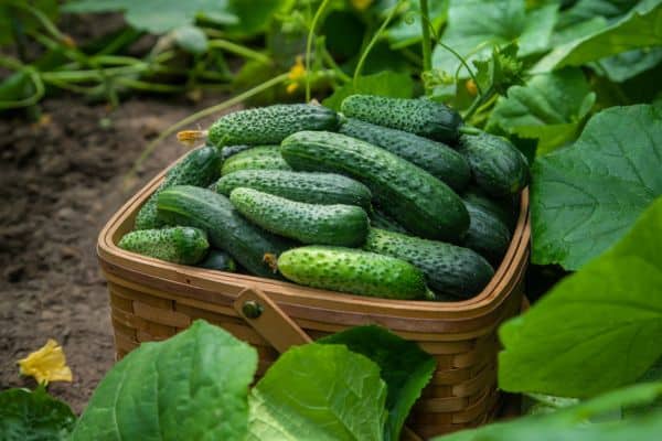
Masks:
[[[491,196],[520,193],[528,183],[528,165],[508,139],[495,135],[462,135],[458,151],[465,155],[478,186]]]

